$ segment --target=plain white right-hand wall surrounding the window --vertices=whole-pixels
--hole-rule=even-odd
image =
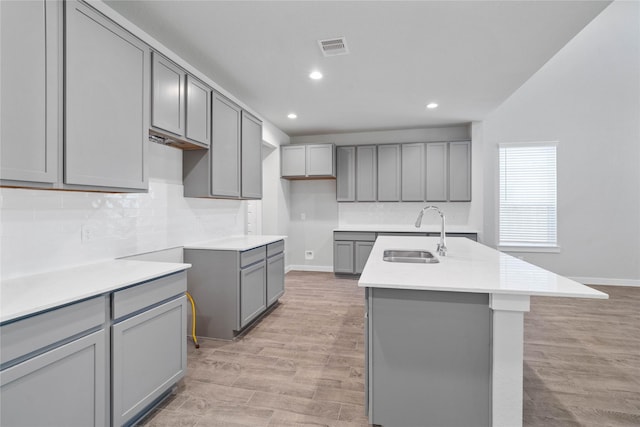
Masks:
[[[485,218],[500,142],[559,141],[559,254],[518,254],[586,283],[640,285],[640,3],[616,1],[484,121]],[[488,189],[493,189],[488,191]],[[496,243],[496,223],[485,241]]]

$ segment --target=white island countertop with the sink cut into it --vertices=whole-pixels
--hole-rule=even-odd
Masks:
[[[447,256],[436,252],[438,237],[378,237],[358,281],[360,287],[608,298],[566,277],[464,237],[447,238]],[[383,261],[386,249],[429,250],[437,264]]]

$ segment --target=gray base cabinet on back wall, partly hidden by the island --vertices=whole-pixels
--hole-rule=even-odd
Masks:
[[[341,232],[333,233],[333,272],[337,274],[360,274],[364,269],[376,233]]]

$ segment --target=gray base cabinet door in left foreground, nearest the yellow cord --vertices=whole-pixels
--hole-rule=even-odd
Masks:
[[[186,331],[185,296],[111,327],[113,425],[134,419],[184,376]]]

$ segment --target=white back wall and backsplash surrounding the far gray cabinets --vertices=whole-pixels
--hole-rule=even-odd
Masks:
[[[472,202],[438,203],[450,227],[482,231],[482,128],[481,123],[442,128],[292,137],[292,143],[360,145],[472,140]],[[333,230],[338,226],[410,226],[424,203],[338,203],[335,180],[291,182],[290,263],[300,270],[333,271]],[[303,214],[305,219],[303,218]],[[424,229],[439,230],[439,218],[426,216]],[[481,237],[481,236],[480,236]],[[305,259],[305,251],[314,259]]]

